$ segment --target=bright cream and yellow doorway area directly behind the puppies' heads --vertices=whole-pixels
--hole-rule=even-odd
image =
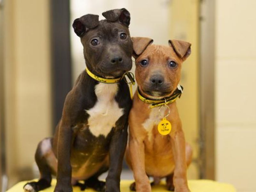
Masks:
[[[194,150],[193,162],[188,169],[189,179],[200,177],[200,103],[199,103],[199,5],[200,2],[186,0],[70,0],[70,23],[84,14],[97,14],[106,10],[125,7],[131,13],[129,26],[131,36],[145,36],[155,44],[168,45],[169,39],[180,39],[192,43],[192,55],[182,68],[181,84],[184,93],[177,101],[185,137]],[[97,7],[97,9],[94,9]],[[142,9],[143,7],[143,9]],[[70,26],[72,82],[85,69],[83,47]],[[134,72],[134,66],[132,68]],[[136,85],[133,87],[136,89]]]

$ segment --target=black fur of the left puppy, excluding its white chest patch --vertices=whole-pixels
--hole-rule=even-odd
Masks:
[[[126,10],[125,14],[129,13],[127,12]],[[124,17],[124,15],[121,14],[120,17]],[[85,31],[83,26],[80,26],[81,18],[75,20],[73,24],[74,30],[81,37],[84,46],[86,67],[93,74],[103,77],[120,76],[125,71],[129,71],[132,68],[132,41],[127,23],[122,23],[119,20],[116,22],[101,20],[95,27],[97,18],[92,15],[86,16],[86,18],[88,20]],[[87,30],[88,26],[93,28]],[[126,33],[127,38],[120,39],[120,33]],[[91,44],[93,38],[99,40],[99,45]],[[118,64],[111,63],[112,58],[120,56],[122,61]],[[118,92],[115,100],[119,108],[124,109],[124,115],[116,121],[115,126],[106,137],[103,135],[96,137],[88,127],[89,114],[86,110],[93,108],[97,102],[95,94],[97,84],[99,82],[92,79],[84,70],[66,97],[61,120],[51,139],[51,151],[58,159],[55,192],[72,191],[72,175],[85,163],[87,166],[83,167],[84,172],[92,172],[92,175],[83,179],[84,184],[77,182],[76,185],[82,189],[90,187],[98,191],[104,189],[108,192],[120,191],[120,174],[127,143],[127,122],[132,100],[128,85],[121,80],[117,83]],[[42,154],[40,146],[41,143],[36,151],[36,163],[41,178],[39,182],[28,183],[35,191],[49,187],[52,180],[51,175],[56,174],[54,166],[48,162],[47,156]],[[109,161],[106,161],[107,157],[109,157]],[[107,170],[105,186],[105,182],[99,181],[98,176]]]

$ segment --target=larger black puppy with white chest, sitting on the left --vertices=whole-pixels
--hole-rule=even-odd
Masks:
[[[66,97],[54,137],[38,144],[35,158],[41,177],[38,182],[27,183],[25,191],[49,187],[51,175],[56,173],[55,192],[72,191],[78,180],[84,180],[84,184],[79,183],[81,188],[120,191],[132,105],[129,88],[120,78],[132,68],[130,13],[123,8],[102,15],[106,20],[88,14],[73,23],[84,47],[87,69]],[[107,170],[105,187],[98,176]]]

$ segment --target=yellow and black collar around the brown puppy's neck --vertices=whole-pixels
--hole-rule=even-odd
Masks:
[[[167,104],[173,103],[174,101],[176,101],[178,99],[178,97],[180,98],[182,90],[183,90],[183,87],[178,85],[178,88],[173,92],[173,94],[170,97],[166,97],[162,100],[152,100],[152,99],[143,97],[139,91],[139,88],[138,88],[137,92],[138,92],[138,96],[139,96],[140,100],[142,100],[145,103],[151,104],[150,108],[155,108],[155,107],[160,107],[162,105],[167,105]]]

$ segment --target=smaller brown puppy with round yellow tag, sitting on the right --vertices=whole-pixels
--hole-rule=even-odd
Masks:
[[[154,45],[152,39],[143,37],[134,37],[132,41],[138,90],[129,115],[129,145],[125,156],[133,170],[136,191],[151,191],[148,176],[152,176],[153,184],[165,177],[168,190],[175,187],[175,192],[188,192],[186,174],[192,149],[185,143],[175,100],[168,103],[168,99],[175,93],[181,94],[177,89],[181,65],[191,53],[191,44],[169,40],[169,46]],[[157,128],[168,114],[168,107],[152,108],[152,104],[140,99],[138,91],[144,99],[167,100],[170,113],[166,119],[172,124],[170,133],[161,135]],[[135,190],[135,183],[130,188]]]

